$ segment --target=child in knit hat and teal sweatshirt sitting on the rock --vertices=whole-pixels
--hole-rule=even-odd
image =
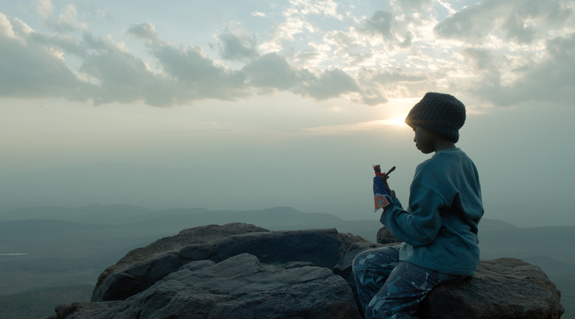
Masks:
[[[476,166],[455,146],[465,106],[454,96],[430,92],[405,123],[415,131],[417,149],[435,154],[417,166],[406,210],[393,190],[384,195],[389,204],[380,221],[404,243],[354,259],[366,319],[415,318],[417,304],[434,286],[472,276],[479,264],[481,186]]]

